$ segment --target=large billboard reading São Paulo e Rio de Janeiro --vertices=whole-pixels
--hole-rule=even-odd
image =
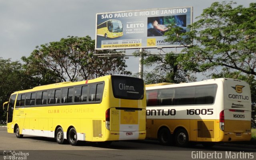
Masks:
[[[192,7],[98,13],[95,49],[177,47],[164,41],[168,26],[188,32],[191,23]]]

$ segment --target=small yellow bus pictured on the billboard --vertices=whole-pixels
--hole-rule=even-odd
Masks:
[[[123,25],[120,20],[107,20],[97,26],[97,36],[117,38],[123,36]]]

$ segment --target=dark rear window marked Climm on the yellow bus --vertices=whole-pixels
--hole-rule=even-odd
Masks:
[[[112,89],[115,98],[120,99],[143,99],[143,79],[112,75]]]

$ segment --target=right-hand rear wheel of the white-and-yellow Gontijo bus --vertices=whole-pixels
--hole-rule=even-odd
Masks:
[[[175,144],[179,147],[187,147],[188,146],[188,132],[185,129],[179,129],[175,133]]]

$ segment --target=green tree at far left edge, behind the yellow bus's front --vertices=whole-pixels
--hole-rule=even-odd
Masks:
[[[45,77],[41,79],[36,74],[31,74],[31,70],[20,61],[11,61],[11,59],[2,59],[0,57],[0,104],[9,101],[10,95],[15,91],[31,89],[42,84],[52,83],[52,79]],[[55,80],[54,80],[55,81]],[[6,122],[6,111],[0,109],[0,124]]]

